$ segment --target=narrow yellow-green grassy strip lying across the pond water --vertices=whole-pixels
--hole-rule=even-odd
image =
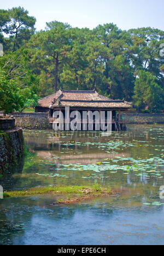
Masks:
[[[101,188],[98,184],[91,187],[86,186],[68,186],[68,187],[36,187],[18,191],[4,192],[4,197],[23,197],[44,194],[69,194],[79,196],[98,196],[102,194],[112,194],[111,188]]]

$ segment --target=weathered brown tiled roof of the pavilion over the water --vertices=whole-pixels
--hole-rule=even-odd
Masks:
[[[40,107],[92,107],[92,108],[131,108],[126,101],[112,100],[93,91],[59,90],[56,94],[38,101]]]

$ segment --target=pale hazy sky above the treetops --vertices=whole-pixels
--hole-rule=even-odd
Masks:
[[[113,22],[122,30],[154,27],[164,30],[164,0],[1,0],[1,9],[24,7],[37,19],[37,30],[57,20],[73,27]]]

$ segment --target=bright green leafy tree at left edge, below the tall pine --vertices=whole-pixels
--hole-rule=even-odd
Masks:
[[[1,73],[5,77],[4,80],[2,78],[0,85],[2,95],[0,104],[1,109],[7,113],[37,105],[39,80],[35,74],[32,74],[27,63],[28,51],[24,48],[8,53],[0,59]]]

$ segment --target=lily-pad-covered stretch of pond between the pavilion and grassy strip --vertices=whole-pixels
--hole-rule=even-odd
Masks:
[[[21,179],[16,189],[92,185],[94,181],[113,187],[163,185],[164,127],[133,126],[132,132],[112,132],[104,137],[101,132],[24,134],[33,158],[25,162],[22,172],[13,175]]]

